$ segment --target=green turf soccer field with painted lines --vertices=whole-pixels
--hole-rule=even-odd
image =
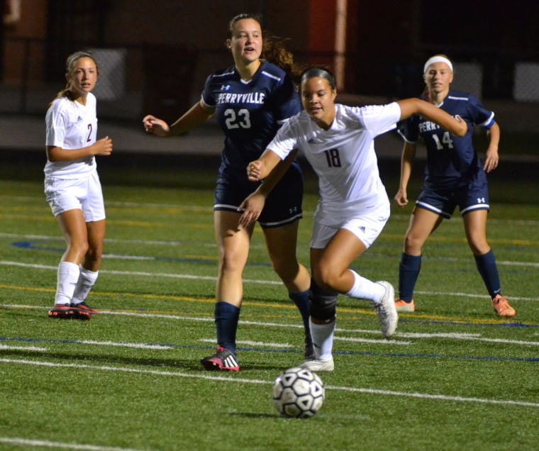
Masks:
[[[91,321],[47,318],[65,245],[41,168],[0,170],[0,449],[537,450],[537,185],[491,179],[489,242],[517,316],[496,318],[458,216],[428,241],[415,294],[383,340],[366,301],[341,296],[335,371],[308,420],[281,418],[274,377],[301,362],[299,313],[268,264],[260,229],[245,269],[235,374],[213,353],[213,167],[107,169],[108,233]],[[15,168],[19,170],[20,168]],[[494,180],[494,182],[492,181]],[[390,196],[395,179],[386,180]],[[307,180],[299,259],[316,204]],[[356,262],[396,285],[411,207]]]

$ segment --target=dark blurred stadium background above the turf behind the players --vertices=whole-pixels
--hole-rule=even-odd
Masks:
[[[209,73],[231,64],[230,18],[258,12],[267,30],[289,38],[296,62],[333,67],[348,104],[418,95],[423,62],[445,53],[455,62],[453,87],[493,109],[504,135],[524,137],[516,153],[535,153],[536,0],[2,0],[2,8],[0,116],[21,118],[21,128],[23,118],[43,118],[74,50],[99,62],[101,121],[139,132],[146,113],[173,121]],[[4,148],[7,134],[0,130]]]

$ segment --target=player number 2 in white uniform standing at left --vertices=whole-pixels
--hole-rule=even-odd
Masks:
[[[45,116],[45,195],[67,243],[57,271],[49,318],[89,320],[86,299],[96,282],[105,238],[105,207],[95,155],[111,155],[112,140],[97,140],[98,68],[89,53],[67,57],[67,86]]]

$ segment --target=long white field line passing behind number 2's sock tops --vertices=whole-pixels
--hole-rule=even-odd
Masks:
[[[57,271],[57,266],[51,265],[37,265],[30,263],[21,263],[21,262],[10,262],[8,260],[0,260],[1,266],[14,266],[14,267],[23,267],[23,268],[34,268],[34,269],[49,269],[51,271]],[[535,263],[529,263],[526,265],[538,265]],[[167,273],[155,273],[155,272],[140,272],[140,271],[113,271],[111,269],[100,269],[99,274],[114,274],[121,276],[130,276],[130,277],[170,277],[172,279],[191,279],[191,280],[208,280],[211,282],[216,282],[217,277],[213,276],[197,276],[194,274],[167,274]],[[272,281],[272,280],[260,280],[260,279],[243,279],[245,284],[261,284],[261,285],[282,285],[282,282]],[[417,294],[423,294],[426,296],[456,296],[456,297],[465,297],[465,298],[474,298],[474,299],[484,299],[484,294],[469,294],[469,293],[457,293],[457,292],[446,292],[446,291],[416,291]],[[528,297],[519,297],[511,296],[511,299],[515,301],[539,301],[539,297],[528,298]]]

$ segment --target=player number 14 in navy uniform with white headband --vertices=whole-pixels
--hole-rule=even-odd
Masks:
[[[450,88],[453,67],[448,57],[430,57],[423,72],[426,84],[423,99],[452,116],[458,115],[464,119],[468,123],[468,133],[462,138],[450,136],[445,130],[419,116],[412,116],[399,126],[399,133],[405,143],[401,160],[401,182],[394,197],[397,205],[408,204],[406,187],[418,138],[422,138],[427,147],[427,165],[423,189],[404,238],[404,251],[399,265],[397,311],[415,311],[412,297],[421,268],[421,249],[443,219],[449,219],[459,206],[468,245],[491,296],[494,311],[498,316],[515,316],[515,309],[509,305],[505,296],[501,296],[496,259],[487,243],[487,215],[490,207],[485,172],[498,166],[499,126],[494,121],[494,113],[485,109],[477,97]],[[484,163],[473,147],[474,124],[487,130],[489,137]]]

